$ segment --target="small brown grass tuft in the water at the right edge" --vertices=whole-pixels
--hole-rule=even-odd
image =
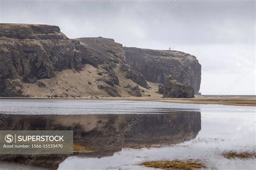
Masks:
[[[227,159],[255,159],[256,155],[254,151],[225,151],[222,155]]]

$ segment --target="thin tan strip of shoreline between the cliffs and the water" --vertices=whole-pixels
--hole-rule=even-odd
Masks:
[[[0,97],[1,99],[74,99],[72,97]],[[130,100],[130,101],[160,101],[167,103],[183,103],[183,104],[217,104],[217,105],[231,105],[231,106],[256,106],[256,97],[205,97],[196,96],[195,98],[159,98],[159,97],[76,97],[74,100]]]

